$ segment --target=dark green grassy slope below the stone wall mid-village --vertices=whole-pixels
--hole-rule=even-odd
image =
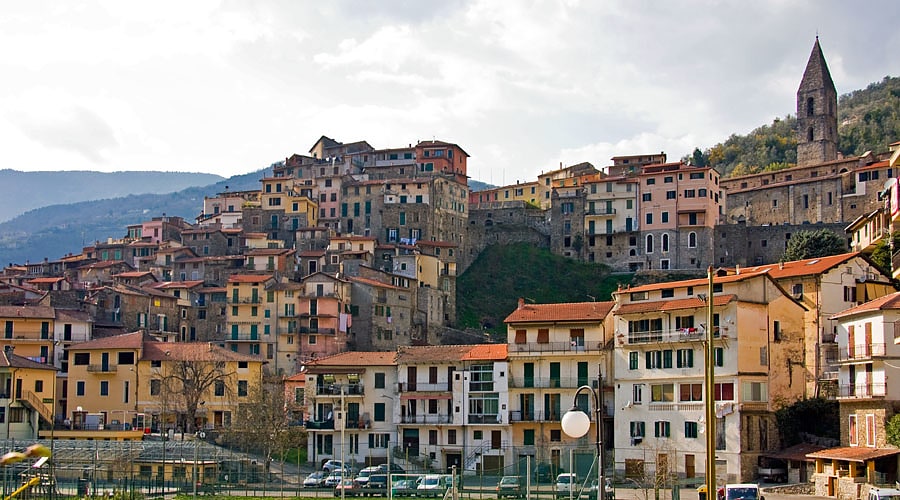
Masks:
[[[631,277],[524,243],[488,247],[457,280],[458,324],[505,339],[503,320],[520,297],[538,304],[611,300]]]

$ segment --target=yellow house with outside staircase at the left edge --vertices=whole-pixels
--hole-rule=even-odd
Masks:
[[[8,439],[35,439],[53,422],[56,369],[0,350],[0,432]]]

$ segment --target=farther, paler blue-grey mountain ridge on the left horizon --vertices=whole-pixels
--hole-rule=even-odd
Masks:
[[[33,208],[79,201],[118,198],[131,194],[171,193],[191,186],[225,180],[214,174],[192,172],[20,172],[0,170],[0,222]]]

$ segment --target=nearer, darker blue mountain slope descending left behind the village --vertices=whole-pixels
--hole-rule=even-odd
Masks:
[[[157,177],[170,175],[150,173]],[[163,214],[193,222],[203,210],[204,196],[215,196],[225,191],[226,186],[229,191],[259,189],[259,180],[270,175],[271,169],[262,169],[167,194],[135,194],[30,210],[0,223],[0,267],[44,258],[53,260],[68,253],[78,253],[82,247],[95,241],[125,236],[129,224]]]

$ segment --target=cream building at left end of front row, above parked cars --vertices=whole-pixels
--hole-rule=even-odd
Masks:
[[[358,468],[387,462],[399,443],[391,418],[400,404],[394,357],[350,351],[304,365],[310,462],[335,459]]]

